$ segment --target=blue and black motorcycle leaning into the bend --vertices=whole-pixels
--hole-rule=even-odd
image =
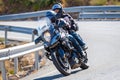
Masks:
[[[63,75],[71,74],[72,62],[80,64],[80,68],[87,69],[87,59],[82,59],[77,50],[72,46],[68,39],[68,33],[62,28],[55,28],[50,19],[45,17],[42,19],[43,26],[34,30],[34,34],[39,37],[35,39],[35,43],[43,42],[44,48],[47,51],[46,56],[50,59],[57,70]],[[87,57],[86,51],[83,51],[84,56]]]

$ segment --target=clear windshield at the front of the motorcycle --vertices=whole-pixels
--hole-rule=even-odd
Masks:
[[[40,36],[44,31],[48,30],[51,25],[51,21],[48,17],[44,17],[39,20],[39,26],[37,27],[38,36]]]

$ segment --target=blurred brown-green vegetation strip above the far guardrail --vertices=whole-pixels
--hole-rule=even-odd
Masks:
[[[120,0],[0,0],[0,15],[51,9],[56,2],[64,7],[120,5]]]

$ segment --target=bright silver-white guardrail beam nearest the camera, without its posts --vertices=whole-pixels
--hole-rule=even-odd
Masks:
[[[41,44],[35,45],[34,42],[31,42],[31,43],[20,45],[20,46],[2,49],[2,50],[0,50],[0,61],[12,59],[15,57],[22,56],[26,53],[30,53],[30,52],[34,52],[34,51],[43,49],[43,46],[42,47],[40,47],[40,46],[41,46]]]

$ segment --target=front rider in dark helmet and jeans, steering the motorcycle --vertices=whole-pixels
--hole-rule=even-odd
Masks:
[[[67,28],[69,28],[69,23],[67,21],[65,21],[64,19],[56,19],[56,13],[54,11],[48,11],[46,13],[46,17],[51,19],[51,22],[54,24],[55,27],[60,28],[62,26],[64,28],[64,26],[66,26]],[[62,24],[58,25],[57,21],[61,22]],[[76,39],[70,34],[68,34],[68,38],[73,43],[73,46],[77,49],[78,53],[82,53],[81,47],[80,47],[79,43],[76,41]],[[72,68],[76,68],[79,66],[80,66],[80,64],[76,63],[73,65]]]

